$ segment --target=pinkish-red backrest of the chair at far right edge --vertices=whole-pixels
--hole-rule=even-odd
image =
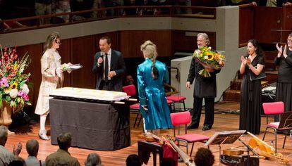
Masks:
[[[284,113],[284,103],[283,101],[277,101],[272,103],[262,103],[262,108],[264,109],[264,114],[266,115],[276,115]]]

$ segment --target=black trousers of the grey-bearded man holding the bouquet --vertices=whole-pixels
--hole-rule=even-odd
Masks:
[[[193,104],[193,117],[192,123],[194,127],[198,127],[200,125],[200,117],[202,112],[202,99],[194,97]],[[212,127],[214,123],[214,101],[215,98],[205,98],[205,121],[204,126]]]

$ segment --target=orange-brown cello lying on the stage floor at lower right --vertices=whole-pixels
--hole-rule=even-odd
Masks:
[[[248,145],[253,148],[253,150],[256,151],[259,155],[284,164],[289,162],[288,159],[285,158],[281,153],[276,153],[272,146],[269,146],[269,144],[257,138],[257,136],[254,134],[251,134],[250,132],[248,132],[248,134],[253,136],[253,138],[248,142]]]

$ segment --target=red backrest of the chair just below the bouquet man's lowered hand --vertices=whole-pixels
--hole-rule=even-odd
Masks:
[[[190,112],[183,111],[180,113],[171,113],[172,125],[188,125],[190,123]]]

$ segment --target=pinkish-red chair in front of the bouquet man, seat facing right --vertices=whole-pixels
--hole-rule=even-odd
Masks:
[[[174,136],[176,141],[178,141],[178,146],[185,146],[186,153],[188,154],[188,143],[193,143],[192,149],[190,150],[190,156],[192,156],[195,142],[205,142],[209,137],[202,134],[188,134],[187,125],[190,121],[190,112],[188,111],[171,113],[171,122],[174,125]],[[185,134],[180,134],[180,125],[185,125]],[[176,135],[176,126],[178,126],[178,135]],[[183,141],[185,144],[180,144],[179,141]]]

